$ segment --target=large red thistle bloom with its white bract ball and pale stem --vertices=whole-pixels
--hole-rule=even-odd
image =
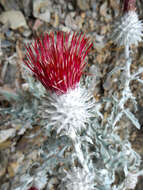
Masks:
[[[78,134],[87,129],[94,116],[95,101],[79,81],[91,47],[81,34],[46,34],[27,48],[25,61],[47,90],[43,101],[46,128],[56,128],[58,135],[73,140],[78,159],[87,171]]]

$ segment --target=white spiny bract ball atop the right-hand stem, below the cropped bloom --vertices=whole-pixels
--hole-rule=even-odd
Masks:
[[[118,46],[138,45],[142,41],[143,24],[135,11],[125,13],[114,25],[112,40]]]

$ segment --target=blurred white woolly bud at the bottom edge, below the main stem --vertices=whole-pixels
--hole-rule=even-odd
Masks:
[[[66,172],[63,179],[67,190],[96,190],[94,180],[93,173],[87,173],[81,168],[73,168],[71,172]]]

